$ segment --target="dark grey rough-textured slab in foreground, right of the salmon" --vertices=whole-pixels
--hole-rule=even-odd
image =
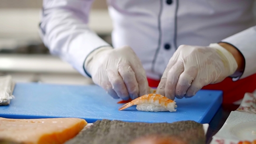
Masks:
[[[175,138],[181,141],[181,144],[206,143],[203,124],[195,121],[142,123],[104,119],[102,121],[95,121],[90,128],[81,131],[81,133],[65,144],[135,144],[136,139],[143,139],[143,137],[146,138],[147,136]]]

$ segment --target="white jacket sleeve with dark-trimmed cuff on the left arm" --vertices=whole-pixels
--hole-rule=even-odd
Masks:
[[[94,49],[110,46],[87,23],[93,0],[44,0],[40,36],[50,53],[69,62],[82,75],[86,57]]]

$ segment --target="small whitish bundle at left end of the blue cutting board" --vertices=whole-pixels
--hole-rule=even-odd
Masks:
[[[15,83],[10,75],[0,76],[0,105],[9,105],[14,98],[13,88]]]

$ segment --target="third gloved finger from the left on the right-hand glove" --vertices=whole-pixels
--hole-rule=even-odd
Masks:
[[[196,66],[184,66],[184,72],[181,73],[175,89],[175,96],[177,98],[183,98],[190,87],[191,83],[197,76]]]

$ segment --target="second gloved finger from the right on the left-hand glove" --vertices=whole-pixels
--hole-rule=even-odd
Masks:
[[[119,65],[118,72],[121,75],[123,81],[125,82],[128,94],[131,99],[138,98],[139,87],[138,82],[135,77],[135,72],[130,65]]]

